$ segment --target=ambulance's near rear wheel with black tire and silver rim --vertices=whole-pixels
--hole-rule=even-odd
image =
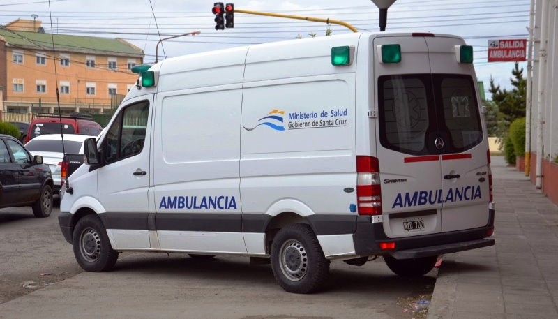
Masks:
[[[322,288],[329,273],[329,260],[312,228],[293,224],[279,230],[273,239],[271,269],[287,292],[306,294]]]

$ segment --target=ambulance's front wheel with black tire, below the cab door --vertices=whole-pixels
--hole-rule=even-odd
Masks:
[[[110,270],[118,259],[118,252],[110,246],[107,230],[96,215],[77,221],[72,242],[75,260],[87,272]]]

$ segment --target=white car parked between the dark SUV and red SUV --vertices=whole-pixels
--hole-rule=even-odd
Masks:
[[[83,142],[87,138],[91,138],[91,135],[64,134],[64,149],[60,134],[40,135],[25,144],[33,156],[43,156],[44,163],[49,165],[54,181],[54,194],[58,194],[66,180],[66,176],[61,176],[64,151],[66,154],[83,154]]]

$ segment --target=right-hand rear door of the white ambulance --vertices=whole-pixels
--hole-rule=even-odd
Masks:
[[[476,94],[472,64],[456,59],[460,38],[425,38],[430,52],[442,163],[442,231],[478,228],[488,223],[488,144]]]

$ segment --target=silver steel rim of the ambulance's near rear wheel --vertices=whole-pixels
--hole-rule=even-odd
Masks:
[[[281,246],[281,272],[291,281],[299,281],[308,272],[306,248],[297,240],[290,239]]]

